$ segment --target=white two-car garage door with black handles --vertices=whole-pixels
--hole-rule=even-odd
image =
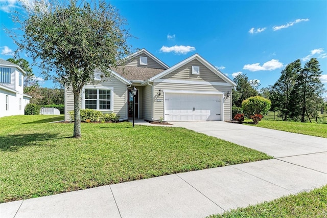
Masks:
[[[221,95],[166,93],[165,120],[221,120]]]

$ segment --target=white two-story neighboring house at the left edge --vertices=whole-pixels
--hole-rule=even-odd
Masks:
[[[23,93],[25,75],[18,65],[0,59],[0,117],[24,115],[32,98]]]

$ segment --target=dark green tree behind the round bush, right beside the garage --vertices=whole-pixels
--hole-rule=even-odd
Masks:
[[[253,88],[252,85],[254,84],[256,87],[258,87],[258,81],[256,81],[257,83],[251,83],[246,74],[237,75],[233,81],[237,84],[235,91],[232,93],[233,106],[241,107],[243,100],[258,95],[258,92]]]

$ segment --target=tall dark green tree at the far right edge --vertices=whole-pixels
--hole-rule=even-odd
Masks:
[[[311,58],[305,67],[298,73],[292,97],[292,116],[300,116],[301,122],[305,122],[305,116],[315,117],[320,111],[324,93],[323,84],[320,80],[321,70],[316,58]],[[310,120],[311,121],[311,120]]]

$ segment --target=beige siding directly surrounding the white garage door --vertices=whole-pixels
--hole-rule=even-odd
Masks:
[[[184,91],[202,91],[202,92],[224,92],[231,93],[231,86],[217,86],[217,85],[195,85],[195,84],[176,84],[176,83],[154,83],[154,93],[161,90],[184,90]],[[157,101],[159,99],[159,101]],[[160,101],[161,100],[161,101]],[[231,119],[231,102],[230,97],[224,98],[224,120]],[[164,95],[155,98],[154,100],[154,119],[160,119],[164,116]]]

